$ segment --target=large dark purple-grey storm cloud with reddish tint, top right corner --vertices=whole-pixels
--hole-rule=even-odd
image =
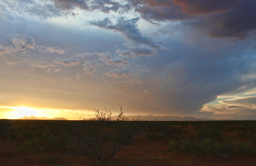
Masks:
[[[182,21],[213,37],[244,39],[256,29],[255,0],[142,0],[135,8],[150,22]]]

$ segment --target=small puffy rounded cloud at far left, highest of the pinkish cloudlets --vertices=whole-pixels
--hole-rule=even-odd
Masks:
[[[16,35],[17,38],[12,39],[12,43],[14,43],[17,49],[24,50],[26,48],[35,49],[35,40],[25,34]]]

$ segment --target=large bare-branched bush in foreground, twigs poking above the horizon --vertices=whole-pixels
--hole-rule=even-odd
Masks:
[[[134,137],[140,135],[141,125],[136,121],[126,121],[121,106],[116,121],[111,121],[113,116],[110,109],[94,110],[95,114],[89,119],[79,115],[78,121],[66,128],[63,134],[52,128],[58,135],[55,138],[64,140],[70,149],[75,149],[73,154],[105,166],[126,145],[136,143]]]

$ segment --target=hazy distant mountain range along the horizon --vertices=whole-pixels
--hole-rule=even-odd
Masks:
[[[195,117],[180,117],[180,116],[154,116],[154,115],[132,115],[132,116],[127,116],[128,121],[133,121],[134,119],[136,120],[139,118],[142,121],[236,121],[237,119],[208,119],[208,118],[195,118]],[[22,117],[19,119],[31,119],[31,120],[67,120],[63,117],[60,118],[46,118],[46,117]],[[117,119],[117,116],[113,117],[113,121]],[[250,120],[250,119],[248,119]]]

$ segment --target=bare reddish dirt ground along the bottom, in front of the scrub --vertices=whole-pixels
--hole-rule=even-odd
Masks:
[[[42,156],[47,153],[28,150],[20,152],[14,142],[0,139],[0,166],[50,166],[49,162],[42,162]],[[130,145],[118,153],[115,163],[110,166],[256,166],[255,156],[194,156],[192,154],[178,154],[168,151],[168,145],[163,141],[139,140],[137,145]],[[83,160],[82,158],[80,159]],[[69,158],[62,158],[54,166],[64,166]],[[88,162],[71,163],[71,166],[92,166]]]

